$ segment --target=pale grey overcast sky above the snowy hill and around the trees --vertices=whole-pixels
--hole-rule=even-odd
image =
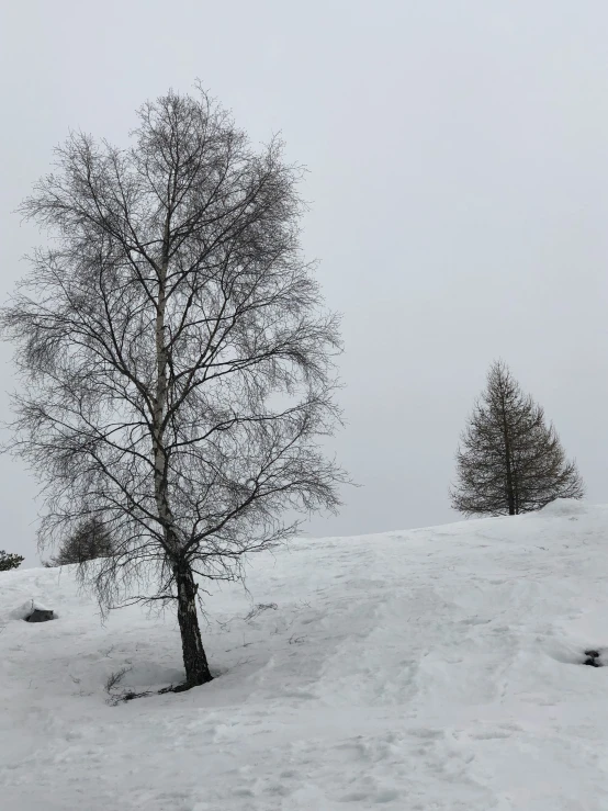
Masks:
[[[344,313],[334,447],[363,485],[313,534],[454,518],[458,435],[503,357],[608,502],[604,0],[23,0],[0,11],[0,299],[38,238],[11,214],[82,128],[200,78],[306,164],[305,248]],[[0,417],[10,350],[0,347]],[[35,562],[33,480],[0,458],[0,548]]]

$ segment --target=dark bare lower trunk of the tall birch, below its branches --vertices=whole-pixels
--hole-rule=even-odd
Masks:
[[[173,568],[173,574],[178,587],[178,621],[185,667],[184,687],[196,687],[213,678],[201,641],[196,616],[196,584],[192,576],[192,568],[187,562],[178,564]]]

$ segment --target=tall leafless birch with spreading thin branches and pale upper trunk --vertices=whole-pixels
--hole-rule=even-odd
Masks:
[[[3,308],[23,390],[12,450],[43,484],[41,543],[103,515],[102,605],[177,600],[184,687],[212,676],[203,581],[335,510],[339,320],[300,248],[302,169],[216,102],[169,92],[131,148],[57,149],[23,213],[53,236]],[[200,597],[200,595],[199,595]]]

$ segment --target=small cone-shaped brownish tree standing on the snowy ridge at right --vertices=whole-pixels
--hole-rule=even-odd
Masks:
[[[515,516],[584,495],[555,428],[502,361],[492,364],[461,436],[457,471],[452,507],[468,516]]]

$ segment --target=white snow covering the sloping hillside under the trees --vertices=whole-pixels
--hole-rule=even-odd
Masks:
[[[180,680],[173,617],[101,624],[69,567],[2,573],[0,806],[608,809],[608,667],[582,665],[607,574],[608,507],[581,503],[299,540],[207,599],[214,682],[113,707],[123,667]],[[15,619],[32,599],[59,619]]]

